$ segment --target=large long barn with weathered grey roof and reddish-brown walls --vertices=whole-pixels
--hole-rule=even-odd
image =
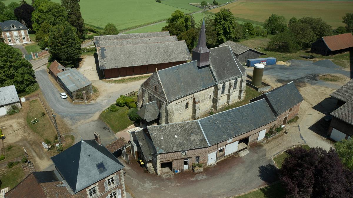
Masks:
[[[95,36],[104,78],[153,73],[191,59],[185,41],[169,32]]]

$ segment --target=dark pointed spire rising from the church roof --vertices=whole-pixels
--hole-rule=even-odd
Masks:
[[[192,50],[192,60],[197,61],[197,66],[209,65],[210,50],[206,46],[206,28],[205,19],[203,19],[199,39],[196,48]]]

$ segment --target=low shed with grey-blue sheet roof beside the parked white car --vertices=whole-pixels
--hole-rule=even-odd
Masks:
[[[72,99],[84,99],[82,92],[86,92],[87,100],[91,98],[92,82],[82,75],[76,68],[57,74],[59,85]]]

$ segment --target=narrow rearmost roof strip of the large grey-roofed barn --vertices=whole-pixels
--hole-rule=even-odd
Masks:
[[[94,41],[114,41],[118,39],[149,38],[149,37],[162,37],[162,36],[170,36],[170,34],[168,31],[164,31],[164,32],[146,32],[146,33],[94,36],[93,38],[94,38]]]

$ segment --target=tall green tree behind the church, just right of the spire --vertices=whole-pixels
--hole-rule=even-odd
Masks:
[[[234,16],[229,8],[222,8],[217,12],[215,14],[214,22],[218,43],[224,43],[235,38]]]

